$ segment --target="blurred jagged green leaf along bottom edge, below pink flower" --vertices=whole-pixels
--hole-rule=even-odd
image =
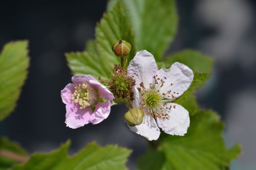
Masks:
[[[126,170],[125,162],[131,151],[114,145],[99,147],[95,142],[72,157],[68,156],[70,142],[52,153],[36,153],[23,165],[12,170]]]

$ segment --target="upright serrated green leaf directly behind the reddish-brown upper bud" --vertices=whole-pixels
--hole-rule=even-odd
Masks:
[[[120,39],[129,42],[132,46],[130,54],[127,56],[129,62],[135,56],[136,45],[132,25],[124,13],[122,4],[118,1],[113,9],[103,14],[103,17],[96,26],[98,52],[101,56],[104,56],[106,62],[110,63],[111,71],[113,64],[120,63],[120,59],[112,51],[113,43]]]

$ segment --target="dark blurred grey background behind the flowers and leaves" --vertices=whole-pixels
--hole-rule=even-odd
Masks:
[[[70,153],[96,140],[133,149],[128,162],[136,167],[147,141],[131,132],[123,106],[112,107],[109,118],[79,129],[65,126],[60,90],[71,82],[65,52],[83,51],[94,38],[94,27],[106,0],[2,1],[0,47],[28,39],[30,68],[18,106],[0,122],[0,136],[9,136],[29,152],[49,152],[71,139]],[[256,167],[256,1],[177,0],[179,28],[167,53],[196,49],[215,58],[212,77],[197,91],[202,108],[212,108],[225,120],[228,147],[240,142],[243,152],[233,170]]]

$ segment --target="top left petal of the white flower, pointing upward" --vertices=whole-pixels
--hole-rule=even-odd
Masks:
[[[136,81],[136,87],[139,86],[141,82],[147,88],[152,81],[152,77],[158,71],[158,66],[154,56],[146,51],[139,51],[132,59],[127,68],[127,74],[129,76],[134,75]],[[138,76],[136,74],[138,74]]]

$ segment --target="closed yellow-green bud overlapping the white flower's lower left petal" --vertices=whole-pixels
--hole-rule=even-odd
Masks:
[[[141,109],[130,109],[125,115],[124,119],[130,126],[136,126],[142,123],[144,112]]]

